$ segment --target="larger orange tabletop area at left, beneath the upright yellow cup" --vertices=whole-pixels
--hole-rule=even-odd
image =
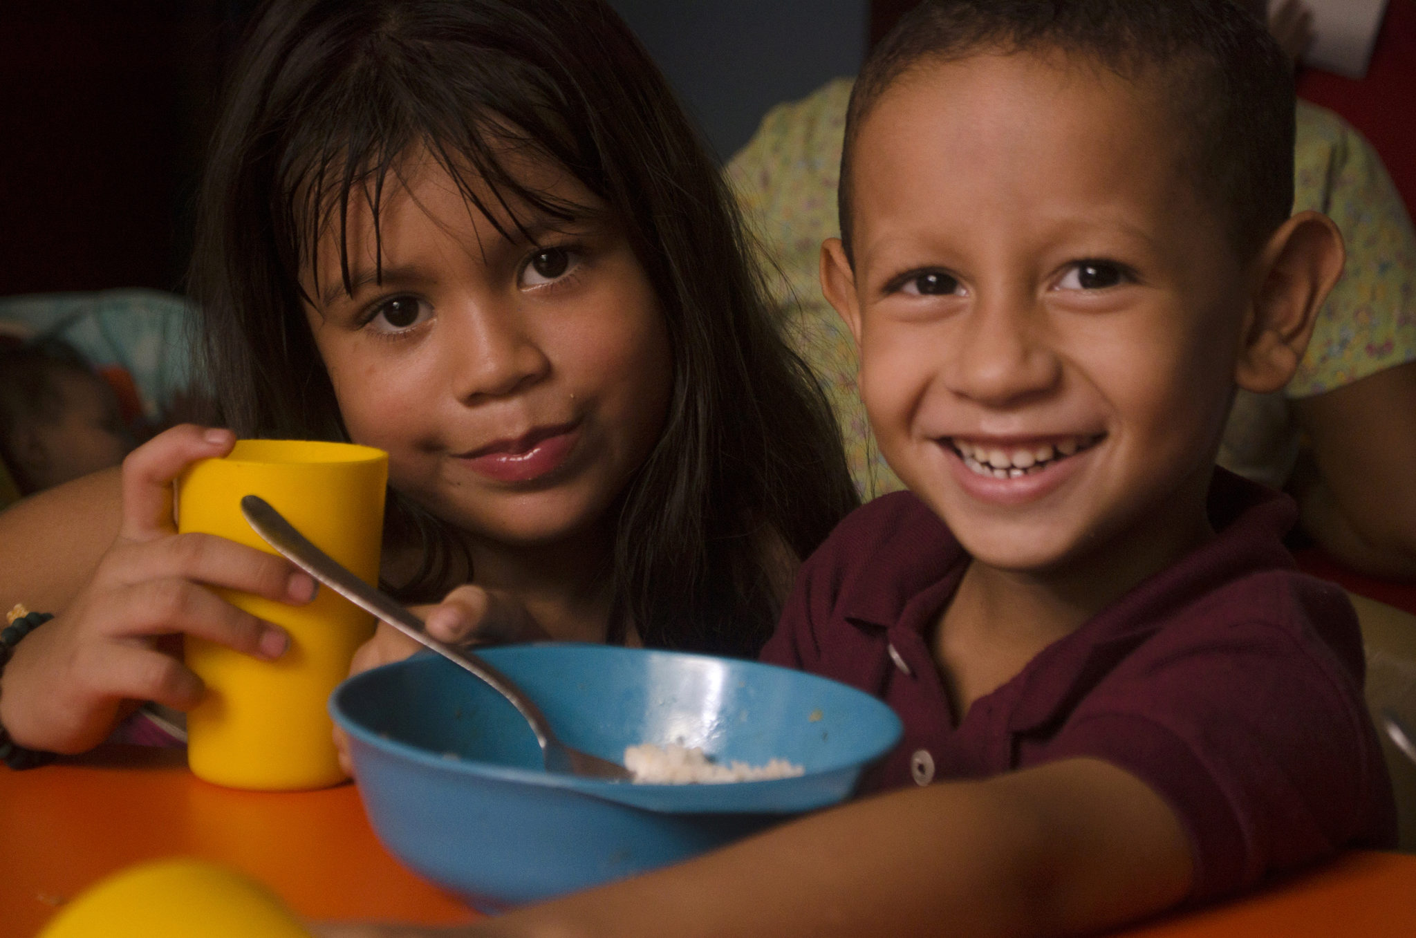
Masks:
[[[164,856],[242,870],[309,918],[477,918],[379,845],[354,785],[235,791],[195,778],[183,750],[129,746],[0,767],[0,938],[33,938],[95,880]]]

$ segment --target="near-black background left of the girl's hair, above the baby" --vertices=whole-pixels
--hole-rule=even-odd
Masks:
[[[0,296],[173,289],[251,3],[0,0]]]

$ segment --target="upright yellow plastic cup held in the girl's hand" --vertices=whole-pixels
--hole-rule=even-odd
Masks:
[[[259,495],[331,557],[378,581],[388,454],[307,440],[238,440],[225,458],[194,463],[177,481],[177,531],[221,535],[275,553],[241,515]],[[224,590],[235,606],[290,634],[273,662],[188,635],[187,666],[207,695],[187,714],[187,763],[231,788],[297,791],[344,781],[326,702],[348,676],[374,617],[320,589],[307,606]]]

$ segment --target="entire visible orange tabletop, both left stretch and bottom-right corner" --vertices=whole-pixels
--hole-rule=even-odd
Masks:
[[[194,778],[180,750],[106,747],[27,772],[0,768],[0,938],[33,938],[99,877],[198,856],[262,880],[310,918],[477,918],[374,838],[353,785],[265,794]],[[1242,900],[1130,938],[1416,935],[1416,856],[1352,852]]]

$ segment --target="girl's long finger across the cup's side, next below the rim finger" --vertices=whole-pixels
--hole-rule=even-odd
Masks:
[[[217,535],[185,533],[129,546],[108,573],[118,584],[181,577],[227,590],[302,606],[314,598],[314,579],[285,557]]]

